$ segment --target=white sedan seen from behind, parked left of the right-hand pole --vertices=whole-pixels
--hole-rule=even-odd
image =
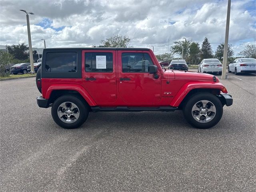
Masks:
[[[198,72],[222,73],[222,64],[218,59],[203,59],[198,65]]]

